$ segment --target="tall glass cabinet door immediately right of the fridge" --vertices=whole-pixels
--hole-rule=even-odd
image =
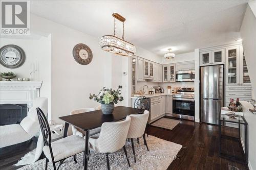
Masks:
[[[226,85],[239,85],[239,46],[226,48]]]

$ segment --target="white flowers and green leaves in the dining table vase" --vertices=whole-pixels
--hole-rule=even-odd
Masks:
[[[99,102],[100,104],[110,104],[115,103],[117,104],[118,101],[123,101],[123,97],[119,96],[121,94],[121,88],[122,86],[118,86],[117,90],[113,90],[112,88],[108,89],[103,87],[99,94],[91,94],[89,96],[89,99],[94,99],[95,101]]]

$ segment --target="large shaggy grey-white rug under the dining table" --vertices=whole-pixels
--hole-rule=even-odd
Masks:
[[[182,145],[159,139],[149,135],[146,137],[148,149],[143,143],[143,138],[139,139],[139,143],[135,140],[136,163],[134,162],[131,142],[126,142],[126,150],[130,159],[131,167],[128,166],[123,150],[119,150],[110,155],[111,169],[167,169],[174,159],[179,159],[177,155]],[[59,169],[83,169],[82,153],[76,156],[77,163],[73,157],[66,159]],[[35,163],[23,166],[19,169],[45,169],[46,159],[41,159]],[[56,163],[56,167],[59,163]],[[48,163],[48,169],[53,169],[52,163]],[[88,169],[106,169],[106,160],[104,154],[91,150]]]

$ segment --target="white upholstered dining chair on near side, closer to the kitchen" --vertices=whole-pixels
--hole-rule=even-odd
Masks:
[[[144,145],[146,145],[146,149],[147,151],[149,151],[146,143],[146,138],[145,138],[145,128],[146,128],[146,123],[149,115],[150,115],[150,112],[147,110],[145,110],[143,114],[130,115],[131,124],[127,134],[127,138],[131,139],[132,141],[134,162],[136,162],[136,157],[135,157],[133,138],[138,138],[143,136]]]

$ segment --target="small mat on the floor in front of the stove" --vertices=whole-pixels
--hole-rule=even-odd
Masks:
[[[154,122],[153,124],[151,124],[151,126],[173,130],[180,122],[181,122],[180,120],[163,117],[157,120],[156,122]]]

